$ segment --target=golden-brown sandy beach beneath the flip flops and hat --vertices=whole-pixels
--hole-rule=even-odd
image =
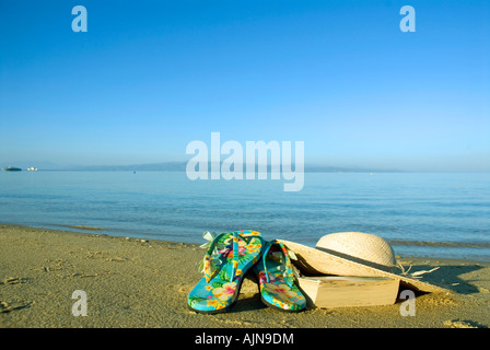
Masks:
[[[196,241],[199,241],[199,236]],[[396,252],[395,252],[396,253]],[[416,315],[394,305],[298,314],[265,306],[246,280],[235,307],[201,315],[187,294],[201,278],[198,245],[0,225],[2,328],[488,328],[490,262],[399,257],[412,271],[440,267],[424,281],[451,293],[416,299]],[[86,316],[74,316],[73,292],[86,295]]]

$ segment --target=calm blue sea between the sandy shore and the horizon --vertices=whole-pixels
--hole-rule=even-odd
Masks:
[[[308,246],[360,231],[401,256],[490,260],[490,174],[306,173],[284,192],[282,180],[179,172],[0,172],[0,222],[187,243],[252,229]]]

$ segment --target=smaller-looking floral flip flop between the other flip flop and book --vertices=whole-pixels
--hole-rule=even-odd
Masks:
[[[285,312],[300,312],[306,307],[306,299],[294,284],[291,259],[282,243],[267,242],[254,271],[257,275],[260,298],[266,305]]]

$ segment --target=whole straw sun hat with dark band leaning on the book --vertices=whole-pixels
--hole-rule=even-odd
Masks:
[[[316,248],[279,240],[296,256],[293,264],[305,275],[387,277],[421,292],[451,292],[413,277],[396,275],[392,246],[382,237],[362,232],[339,232],[323,236]]]

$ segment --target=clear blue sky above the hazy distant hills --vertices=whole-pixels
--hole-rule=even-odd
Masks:
[[[212,131],[490,171],[490,1],[0,0],[1,166],[187,161]]]

